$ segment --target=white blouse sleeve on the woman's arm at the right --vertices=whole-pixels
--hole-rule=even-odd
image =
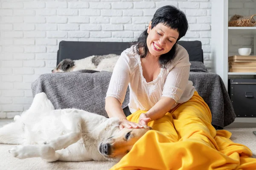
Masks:
[[[179,57],[179,61],[169,71],[169,74],[166,77],[166,82],[163,86],[162,94],[162,96],[174,99],[175,102],[181,98],[186,88],[191,65],[189,62],[189,54],[185,49],[183,49],[182,52],[177,53],[177,56],[178,55],[182,56]]]

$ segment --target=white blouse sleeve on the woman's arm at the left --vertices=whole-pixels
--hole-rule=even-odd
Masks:
[[[116,98],[121,104],[125,99],[128,84],[130,82],[130,71],[128,60],[123,52],[116,62],[109,82],[106,97]]]

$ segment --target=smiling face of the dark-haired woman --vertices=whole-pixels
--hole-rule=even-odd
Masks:
[[[154,56],[160,56],[169,52],[179,37],[177,30],[164,26],[162,23],[157,24],[151,29],[150,22],[147,32],[148,50]]]

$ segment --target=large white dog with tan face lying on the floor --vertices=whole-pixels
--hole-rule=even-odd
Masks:
[[[36,94],[29,110],[0,128],[0,143],[21,144],[9,152],[19,159],[119,161],[151,127],[119,130],[119,119],[78,109],[54,110]]]

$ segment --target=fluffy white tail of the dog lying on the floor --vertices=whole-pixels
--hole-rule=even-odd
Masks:
[[[20,116],[15,116],[14,122],[4,125],[0,128],[0,143],[2,144],[23,144],[26,139],[24,137],[24,125]]]

